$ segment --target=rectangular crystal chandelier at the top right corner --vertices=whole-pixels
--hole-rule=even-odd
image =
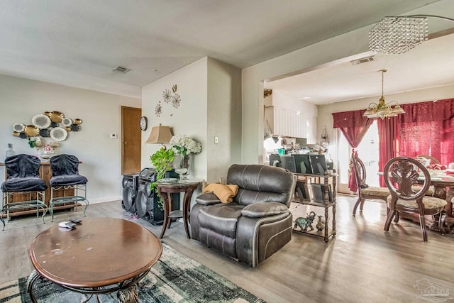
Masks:
[[[427,40],[427,17],[454,21],[432,15],[384,17],[369,32],[369,50],[402,54]]]

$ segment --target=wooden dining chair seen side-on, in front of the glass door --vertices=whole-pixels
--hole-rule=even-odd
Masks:
[[[358,206],[360,206],[360,211],[362,211],[366,199],[380,199],[386,201],[390,192],[387,187],[372,187],[366,184],[366,168],[364,162],[362,162],[358,155],[352,156],[352,162],[356,184],[358,186],[358,200],[356,201],[355,206],[353,206],[353,216],[355,216]]]

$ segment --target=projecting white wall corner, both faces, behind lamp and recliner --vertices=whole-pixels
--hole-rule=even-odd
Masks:
[[[175,109],[161,102],[162,114],[155,116],[162,92],[174,84],[181,106]],[[150,128],[142,136],[142,166],[150,167],[150,155],[162,146],[145,144],[151,126],[162,123],[170,126],[174,135],[186,134],[201,143],[201,153],[192,156],[192,177],[208,182],[224,177],[233,162],[240,162],[240,86],[238,68],[204,57],[143,87],[142,114],[148,116]],[[218,144],[214,144],[214,136],[218,136]]]

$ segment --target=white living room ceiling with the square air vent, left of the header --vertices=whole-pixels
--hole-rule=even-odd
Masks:
[[[141,97],[141,87],[201,57],[248,67],[437,1],[1,0],[0,74]],[[412,64],[419,70],[419,58]],[[116,65],[132,70],[111,72]],[[387,68],[386,80],[395,70]],[[329,93],[350,98],[342,74],[340,92]],[[360,84],[364,75],[349,78]],[[373,76],[357,86],[376,91],[380,78]],[[327,71],[314,77],[339,78]]]

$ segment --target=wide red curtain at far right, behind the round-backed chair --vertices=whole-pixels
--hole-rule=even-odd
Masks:
[[[454,162],[454,99],[403,104],[397,116],[399,155],[431,155]]]

